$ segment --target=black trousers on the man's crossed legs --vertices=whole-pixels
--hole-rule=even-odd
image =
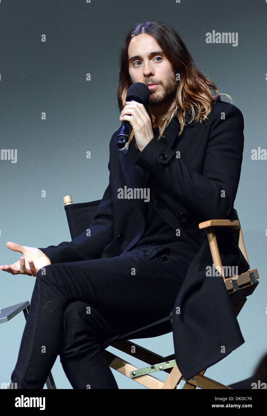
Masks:
[[[11,383],[42,389],[59,354],[74,389],[118,389],[101,344],[166,317],[189,263],[138,247],[40,269]]]

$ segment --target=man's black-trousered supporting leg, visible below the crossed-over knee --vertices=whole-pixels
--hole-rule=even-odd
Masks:
[[[118,389],[101,349],[102,342],[112,337],[116,321],[114,325],[111,321],[82,300],[65,308],[59,357],[73,389]]]

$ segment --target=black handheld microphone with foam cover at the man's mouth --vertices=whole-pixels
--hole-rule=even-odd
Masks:
[[[143,84],[143,82],[134,82],[134,84],[130,85],[127,91],[126,101],[136,101],[146,106],[149,97],[150,89],[148,86]],[[129,140],[132,129],[133,127],[128,120],[122,122],[121,129],[117,137],[117,146],[120,149],[122,149],[125,146],[125,143]]]

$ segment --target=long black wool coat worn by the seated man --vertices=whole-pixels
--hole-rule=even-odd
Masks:
[[[190,120],[188,113],[186,120]],[[231,219],[243,129],[241,111],[223,101],[213,103],[208,120],[185,126],[181,136],[178,119],[172,119],[164,131],[166,142],[154,137],[139,154],[118,151],[118,129],[109,143],[109,185],[90,225],[90,237],[84,231],[70,242],[40,248],[51,263],[114,257],[131,250],[145,229],[144,203],[119,199],[118,189],[149,187],[158,215],[174,231],[183,231],[197,253],[171,312],[176,363],[186,380],[245,342],[223,278],[206,275],[213,260],[205,231],[198,229],[205,220]],[[146,183],[140,167],[149,172]],[[223,265],[238,266],[238,274],[248,270],[231,234],[216,233]],[[151,255],[161,250],[151,246]]]

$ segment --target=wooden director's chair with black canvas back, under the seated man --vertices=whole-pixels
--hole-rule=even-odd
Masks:
[[[87,229],[93,222],[94,215],[101,200],[87,203],[72,203],[72,197],[68,195],[64,196],[63,201],[70,234],[73,239]],[[236,239],[242,254],[248,262],[242,229],[237,216],[237,211],[235,209],[233,209],[233,215],[235,218],[232,220],[208,220],[200,223],[198,227],[200,230],[205,230],[214,266],[222,275],[232,302],[232,306],[234,307],[237,316],[245,304],[247,296],[251,295],[258,285],[259,274],[257,269],[251,270],[249,268],[246,272],[240,275],[225,278],[215,235],[216,227],[231,227],[234,238]],[[163,357],[155,352],[141,347],[138,344],[135,344],[132,341],[129,341],[129,339],[156,337],[171,332],[172,326],[170,319],[171,314],[166,318],[154,322],[153,324],[147,325],[146,327],[137,329],[133,332],[129,332],[128,334],[121,334],[120,336],[114,337],[105,343],[106,347],[114,347],[129,355],[131,355],[131,349],[134,346],[135,357],[145,363],[148,363],[148,366],[139,369],[104,349],[104,354],[109,366],[114,370],[119,371],[121,374],[133,379],[137,383],[142,384],[148,389],[176,389],[180,380],[185,379],[176,365],[175,355],[171,354],[167,357]],[[103,344],[102,347],[105,347],[105,344]],[[165,382],[154,376],[156,371],[165,371],[169,374]],[[229,386],[225,386],[218,381],[205,377],[205,371],[206,369],[201,371],[199,374],[196,374],[192,379],[188,381],[185,380],[186,382],[183,389],[195,389],[196,387],[201,389],[231,389]]]

